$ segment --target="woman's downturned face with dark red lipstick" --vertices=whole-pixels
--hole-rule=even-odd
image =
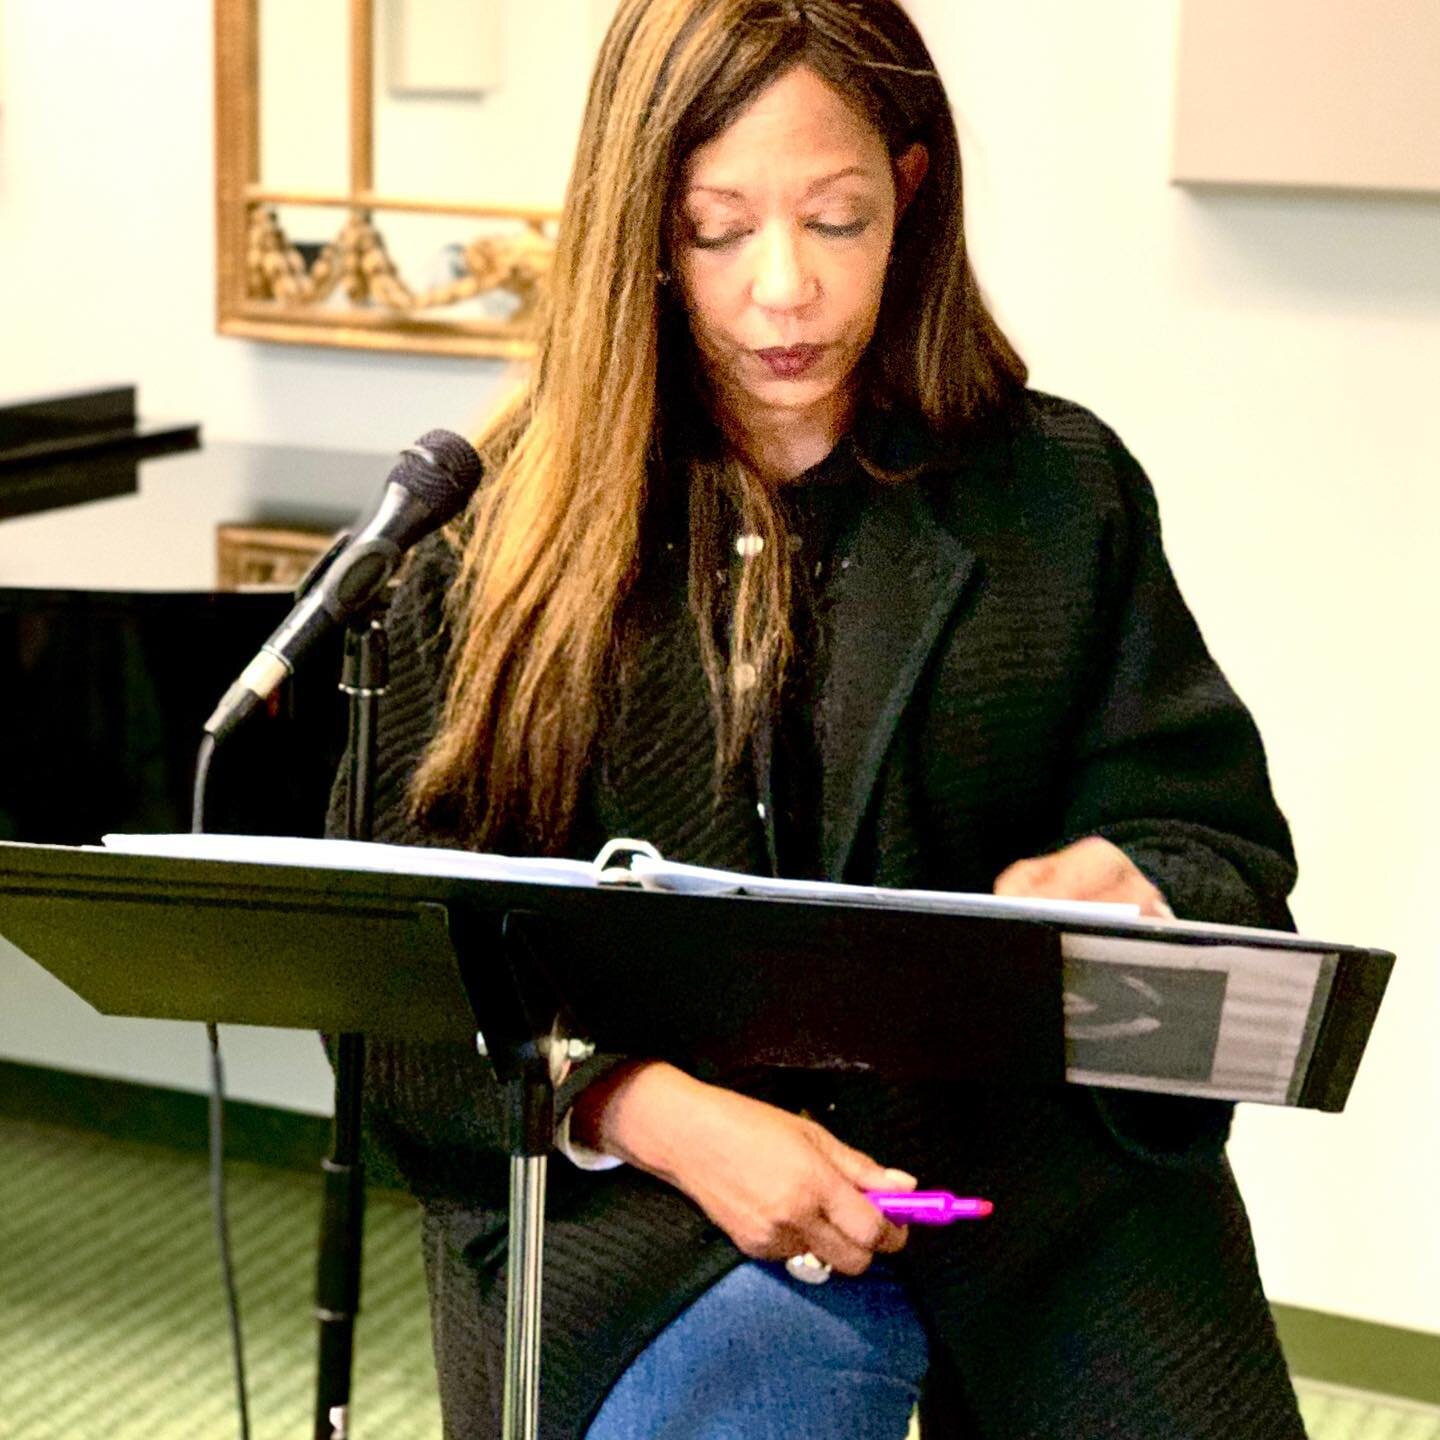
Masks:
[[[701,363],[742,425],[848,409],[897,202],[924,170],[814,71],[788,71],[688,160],[675,276]],[[897,180],[904,196],[897,196]]]

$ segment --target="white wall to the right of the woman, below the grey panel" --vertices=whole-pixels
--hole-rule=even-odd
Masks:
[[[1440,203],[1166,184],[1176,7],[910,0],[1034,383],[1148,468],[1266,736],[1302,929],[1400,963],[1344,1116],[1243,1110],[1276,1299],[1440,1331]]]

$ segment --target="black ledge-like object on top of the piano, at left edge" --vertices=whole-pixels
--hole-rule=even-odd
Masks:
[[[199,448],[199,425],[137,419],[134,386],[0,408],[0,520],[134,494],[140,461]]]

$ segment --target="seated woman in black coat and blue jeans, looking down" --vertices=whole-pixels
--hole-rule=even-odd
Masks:
[[[1024,377],[893,0],[624,0],[539,360],[395,605],[377,838],[1286,923],[1149,485]],[[441,1047],[370,1071],[446,1433],[491,1434],[494,1086]],[[547,1436],[901,1436],[922,1378],[926,1440],[1303,1433],[1223,1106],[613,1056],[559,1100]],[[914,1176],[996,1218],[906,1244],[861,1191]]]

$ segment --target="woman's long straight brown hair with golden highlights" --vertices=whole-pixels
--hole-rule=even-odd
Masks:
[[[622,0],[590,82],[537,359],[480,441],[490,480],[449,598],[445,706],[412,783],[416,812],[469,842],[563,841],[660,487],[688,488],[690,603],[721,769],[778,693],[791,645],[783,524],[696,413],[683,307],[657,276],[685,160],[796,65],[864,114],[891,156],[929,153],[896,230],[863,410],[956,435],[1024,384],[966,258],[949,104],[896,0]],[[721,598],[714,573],[736,523],[766,543]]]

